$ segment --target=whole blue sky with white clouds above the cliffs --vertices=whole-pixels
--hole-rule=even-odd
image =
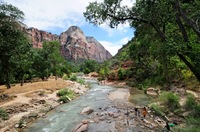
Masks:
[[[18,7],[25,14],[24,23],[60,35],[70,26],[80,27],[86,36],[96,38],[112,55],[130,40],[134,33],[128,24],[111,29],[106,24],[93,26],[85,21],[83,12],[89,2],[103,0],[3,0]],[[135,0],[123,0],[132,5]]]

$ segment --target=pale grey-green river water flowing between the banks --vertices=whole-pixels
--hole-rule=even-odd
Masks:
[[[85,107],[89,106],[96,111],[99,108],[109,105],[110,101],[107,95],[109,92],[116,90],[116,88],[112,86],[100,86],[96,81],[91,81],[90,83],[92,89],[85,95],[57,107],[48,113],[46,118],[42,118],[32,124],[28,132],[70,132],[72,128],[87,118],[87,116],[80,114]],[[142,94],[139,93],[139,95]],[[130,101],[134,103],[134,98],[130,99]]]

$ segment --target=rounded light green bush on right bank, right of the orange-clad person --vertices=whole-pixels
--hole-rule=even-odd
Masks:
[[[179,96],[173,92],[163,92],[159,96],[159,100],[165,105],[166,109],[175,110],[180,107]]]

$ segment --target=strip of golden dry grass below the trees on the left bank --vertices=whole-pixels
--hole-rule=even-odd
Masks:
[[[0,86],[0,94],[18,94],[41,89],[55,91],[70,86],[72,86],[71,83],[62,79],[49,79],[48,81],[24,83],[23,86],[16,84],[15,86],[12,86],[11,89],[6,89],[5,86]]]

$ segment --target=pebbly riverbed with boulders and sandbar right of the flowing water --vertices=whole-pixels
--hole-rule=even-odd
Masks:
[[[135,115],[133,104],[128,102],[129,90],[118,89],[109,93],[110,104],[96,111],[86,107],[81,112],[87,114],[87,118],[82,120],[73,132],[157,132],[162,131],[165,121],[153,115],[150,109],[147,117],[142,117],[142,107],[138,107],[140,115]]]

